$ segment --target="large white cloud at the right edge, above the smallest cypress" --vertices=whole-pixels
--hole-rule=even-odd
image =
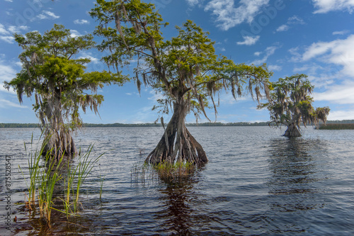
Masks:
[[[343,66],[343,74],[354,77],[354,35],[344,40],[313,43],[302,55],[303,61],[316,58],[327,64],[333,63]]]

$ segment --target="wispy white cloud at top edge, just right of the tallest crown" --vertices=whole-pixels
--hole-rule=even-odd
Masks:
[[[268,2],[269,0],[241,0],[239,6],[235,6],[234,0],[212,0],[205,6],[205,11],[212,11],[217,16],[219,28],[229,30],[245,21],[251,23]]]

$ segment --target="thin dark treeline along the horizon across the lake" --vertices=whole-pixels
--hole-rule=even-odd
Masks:
[[[319,129],[354,129],[354,120],[328,120],[327,125],[320,125]],[[188,123],[187,126],[266,126],[268,122],[238,122],[238,123]],[[90,124],[85,123],[83,125],[86,128],[90,127],[161,127],[161,123],[140,123],[140,124],[122,124],[122,123],[113,123],[113,124]],[[0,128],[39,128],[39,124],[28,123],[28,124],[19,124],[19,123],[0,123]]]

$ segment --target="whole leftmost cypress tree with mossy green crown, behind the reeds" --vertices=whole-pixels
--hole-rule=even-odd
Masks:
[[[95,113],[103,101],[97,94],[104,84],[122,84],[125,77],[120,73],[86,72],[89,58],[76,58],[79,52],[95,46],[92,35],[71,37],[64,26],[55,25],[43,35],[38,31],[15,34],[22,47],[19,55],[21,72],[5,88],[16,91],[18,100],[34,96],[33,109],[48,137],[47,151],[54,149],[56,156],[74,154],[72,130],[82,125],[79,108]],[[89,92],[93,92],[90,94]]]

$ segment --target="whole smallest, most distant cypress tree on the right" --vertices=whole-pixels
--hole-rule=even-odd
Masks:
[[[314,86],[306,74],[295,74],[291,77],[280,78],[272,83],[272,91],[268,103],[262,103],[258,108],[268,108],[270,123],[286,125],[286,137],[301,136],[299,125],[326,123],[330,109],[328,107],[314,108],[314,99],[310,94]]]

